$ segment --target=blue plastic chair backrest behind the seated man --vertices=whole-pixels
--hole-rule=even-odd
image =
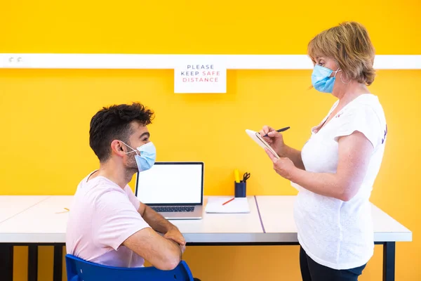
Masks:
[[[173,270],[159,270],[154,267],[116,268],[67,254],[66,270],[67,281],[193,281],[192,272],[185,261],[181,261]]]

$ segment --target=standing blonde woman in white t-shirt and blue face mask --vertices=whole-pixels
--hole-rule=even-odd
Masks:
[[[373,83],[375,50],[357,22],[325,30],[308,45],[312,85],[338,100],[311,130],[302,150],[264,126],[278,153],[274,170],[298,189],[294,217],[304,281],[358,280],[373,256],[370,193],[380,169],[387,126]]]

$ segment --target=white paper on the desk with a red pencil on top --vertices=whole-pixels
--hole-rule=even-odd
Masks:
[[[231,202],[222,205],[230,199],[232,197],[208,197],[208,204],[206,204],[205,208],[206,213],[250,213],[246,197],[235,198]]]

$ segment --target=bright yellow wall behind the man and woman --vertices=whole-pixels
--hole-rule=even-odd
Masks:
[[[305,53],[307,41],[343,20],[368,27],[378,54],[421,54],[420,1],[1,1],[0,53]],[[222,18],[217,19],[220,15]],[[89,120],[103,105],[138,100],[156,112],[150,126],[159,161],[206,162],[205,194],[233,193],[232,170],[250,171],[248,195],[294,195],[244,133],[291,126],[300,148],[334,99],[308,91],[310,70],[229,70],[226,94],[173,93],[172,70],[0,70],[0,194],[72,195],[98,166]],[[396,247],[396,280],[419,280],[421,71],[382,70],[371,91],[387,115],[388,143],[372,202],[413,231]],[[133,186],[133,185],[132,185]],[[25,247],[15,280],[25,280]],[[260,258],[258,255],[264,255]],[[41,247],[39,280],[52,280],[52,249]],[[299,280],[298,247],[189,247],[185,259],[207,280]],[[381,280],[382,249],[361,280]],[[220,268],[217,273],[215,268]],[[275,277],[279,276],[279,277]]]

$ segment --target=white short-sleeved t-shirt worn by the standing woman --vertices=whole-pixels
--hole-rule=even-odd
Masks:
[[[338,137],[359,131],[374,147],[366,176],[358,193],[348,202],[317,195],[292,183],[299,191],[294,217],[298,241],[310,258],[329,268],[349,269],[362,266],[373,256],[369,198],[385,151],[387,126],[377,96],[363,94],[314,133],[337,105],[338,101],[312,128],[312,136],[302,148],[302,162],[307,171],[334,174],[338,166]]]

